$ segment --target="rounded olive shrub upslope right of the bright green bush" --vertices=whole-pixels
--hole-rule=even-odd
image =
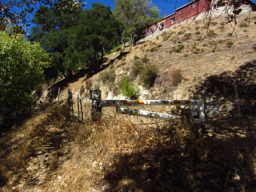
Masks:
[[[151,64],[145,65],[140,73],[140,82],[142,82],[142,86],[144,86],[147,89],[152,87],[157,77],[157,74],[158,70],[156,66]]]

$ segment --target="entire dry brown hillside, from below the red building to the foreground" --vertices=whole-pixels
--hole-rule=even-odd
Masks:
[[[61,80],[48,88],[48,98],[42,98],[51,102],[0,137],[0,191],[255,191],[256,13],[240,14],[232,36],[224,16],[209,29],[203,22],[194,20],[126,47],[106,56],[100,73],[87,68],[72,82]],[[152,87],[144,88],[141,71],[133,75],[134,60],[142,68],[156,66]],[[102,82],[101,74],[110,70],[116,74],[114,83]],[[133,77],[140,99],[205,99],[218,102],[223,110],[207,119],[214,126],[163,124],[118,115],[115,108],[104,109],[100,122],[81,121],[76,104],[75,116],[70,114],[65,103],[68,88],[74,102],[81,93],[84,117],[89,117],[89,89],[100,88],[102,99],[123,99],[122,74]],[[242,118],[236,108],[226,110],[236,102],[234,82]],[[180,113],[180,108],[170,107],[147,110]]]

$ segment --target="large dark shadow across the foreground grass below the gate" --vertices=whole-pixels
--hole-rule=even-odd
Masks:
[[[203,127],[196,127],[166,127],[139,150],[116,155],[104,178],[111,191],[254,191],[252,153],[216,142]]]

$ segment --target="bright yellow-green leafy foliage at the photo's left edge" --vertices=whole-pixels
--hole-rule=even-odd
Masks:
[[[21,35],[0,32],[0,124],[31,106],[31,92],[44,82],[48,54],[38,43],[25,42]]]

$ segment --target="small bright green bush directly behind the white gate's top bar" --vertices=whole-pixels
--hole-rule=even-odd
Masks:
[[[134,84],[130,84],[129,76],[126,76],[122,82],[121,93],[129,99],[138,99],[140,89]]]

